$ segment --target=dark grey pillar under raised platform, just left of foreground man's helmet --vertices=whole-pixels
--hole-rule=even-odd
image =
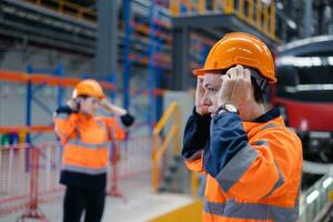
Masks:
[[[189,28],[172,29],[172,72],[170,88],[186,90],[193,88],[195,78],[191,77],[189,58]],[[195,85],[194,85],[195,87]]]

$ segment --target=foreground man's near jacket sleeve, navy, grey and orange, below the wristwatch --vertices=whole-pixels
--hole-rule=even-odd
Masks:
[[[282,127],[262,130],[250,144],[240,117],[225,112],[213,119],[211,132],[204,168],[230,198],[258,201],[290,180],[293,167],[282,171],[278,162],[295,162],[296,154],[290,152],[295,141]]]

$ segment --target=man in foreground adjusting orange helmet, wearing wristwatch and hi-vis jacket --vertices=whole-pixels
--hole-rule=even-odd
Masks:
[[[248,33],[226,34],[194,74],[182,155],[208,176],[203,221],[296,221],[302,143],[268,108],[276,82],[269,48]]]

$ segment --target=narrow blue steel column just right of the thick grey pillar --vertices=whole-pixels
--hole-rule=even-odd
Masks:
[[[123,108],[130,108],[130,73],[131,73],[131,64],[130,64],[130,49],[131,49],[131,40],[130,36],[132,33],[131,30],[131,0],[123,1],[123,20],[124,20],[124,50],[123,50]]]

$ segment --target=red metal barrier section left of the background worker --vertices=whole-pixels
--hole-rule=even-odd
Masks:
[[[63,190],[58,183],[60,153],[56,143],[0,147],[0,218],[24,211],[18,219],[47,221],[39,204],[50,202]]]

